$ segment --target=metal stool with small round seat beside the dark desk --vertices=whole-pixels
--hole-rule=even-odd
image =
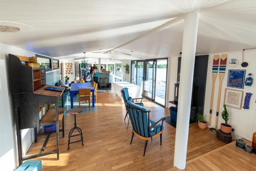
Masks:
[[[80,129],[80,127],[76,126],[76,114],[81,113],[81,112],[82,112],[82,108],[75,108],[75,109],[70,109],[70,110],[67,111],[68,114],[73,114],[75,116],[74,127],[69,132],[68,149],[69,149],[69,144],[72,144],[72,143],[75,143],[75,142],[82,141],[82,145],[83,145],[82,130]],[[79,134],[72,135],[74,130],[77,130],[79,132]],[[81,136],[81,139],[77,140],[77,141],[74,141],[74,142],[70,142],[70,138],[75,137],[75,136]]]

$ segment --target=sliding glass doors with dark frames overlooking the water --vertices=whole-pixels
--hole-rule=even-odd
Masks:
[[[165,106],[167,58],[132,61],[131,83],[140,86],[143,97]]]

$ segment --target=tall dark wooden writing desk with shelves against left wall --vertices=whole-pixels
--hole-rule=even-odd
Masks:
[[[13,115],[16,122],[17,147],[18,147],[18,162],[22,164],[24,160],[57,154],[59,159],[59,120],[62,120],[62,136],[63,125],[63,109],[58,109],[58,101],[62,99],[63,107],[63,88],[62,92],[45,90],[49,85],[42,86],[41,69],[25,66],[20,62],[20,59],[12,54],[9,54],[8,62],[9,89],[13,101]],[[45,73],[43,73],[45,74]],[[46,80],[46,77],[43,78]],[[44,81],[45,81],[44,80]],[[49,110],[47,114],[41,115],[39,119],[39,111],[45,104],[55,104],[55,109]],[[62,111],[62,112],[61,112]],[[62,114],[61,114],[61,113]],[[37,137],[36,127],[43,125],[42,121],[51,118],[51,124],[56,124],[56,149],[49,152],[44,152],[51,132],[40,149],[39,154],[23,157],[22,154],[22,138],[20,130],[31,129],[35,130],[35,142]],[[55,119],[53,119],[55,118]],[[61,119],[60,119],[61,118]]]

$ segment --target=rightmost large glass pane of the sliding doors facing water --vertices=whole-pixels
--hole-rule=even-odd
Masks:
[[[165,105],[167,59],[157,60],[155,101]]]

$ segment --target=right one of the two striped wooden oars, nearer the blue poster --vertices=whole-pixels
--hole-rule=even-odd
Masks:
[[[219,121],[221,88],[222,88],[222,81],[223,81],[225,71],[226,71],[226,65],[227,65],[227,54],[222,54],[221,61],[220,61],[220,69],[219,69],[220,84],[219,84],[219,94],[218,94],[218,102],[217,102],[217,110],[216,110],[215,129],[217,129],[218,121]]]

